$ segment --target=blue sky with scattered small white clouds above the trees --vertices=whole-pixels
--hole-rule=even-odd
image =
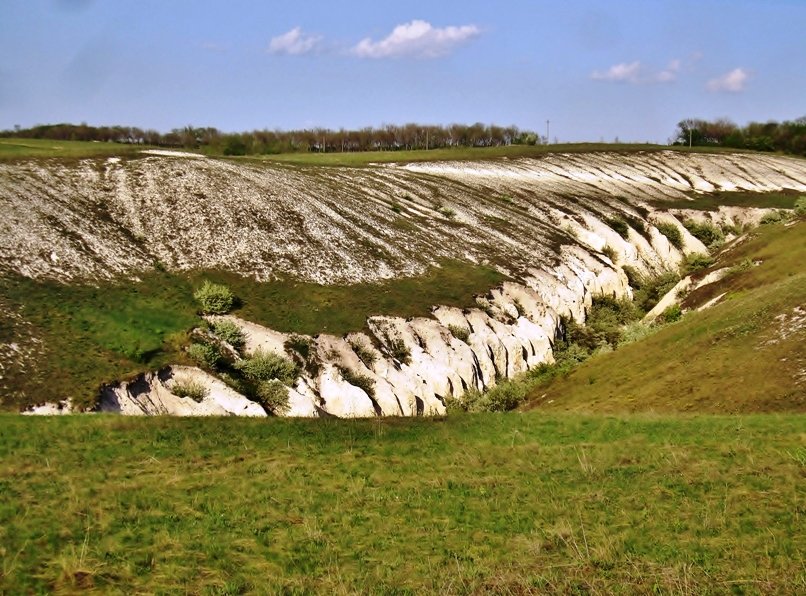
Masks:
[[[0,129],[806,116],[806,0],[0,0]]]

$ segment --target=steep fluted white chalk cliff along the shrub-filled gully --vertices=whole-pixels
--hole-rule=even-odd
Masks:
[[[590,232],[590,231],[589,231]],[[590,232],[591,241],[596,240]],[[620,237],[619,237],[620,238]],[[609,239],[619,246],[615,239]],[[617,259],[671,266],[680,258],[673,247],[643,262],[622,239]],[[295,358],[300,375],[289,388],[285,416],[418,416],[445,413],[448,398],[484,390],[543,363],[552,363],[552,343],[561,321],[584,322],[597,295],[631,298],[622,268],[608,256],[563,246],[553,267],[532,268],[519,282],[505,282],[477,298],[470,309],[439,306],[431,317],[374,316],[367,332],[344,337],[295,336],[309,347],[306,358],[288,346],[289,334],[226,316],[246,335],[244,353],[261,350]],[[207,388],[203,400],[177,397],[177,379],[192,377]],[[356,379],[361,379],[360,382]],[[107,387],[99,410],[134,415],[266,415],[258,405],[198,369],[169,367],[135,381]]]

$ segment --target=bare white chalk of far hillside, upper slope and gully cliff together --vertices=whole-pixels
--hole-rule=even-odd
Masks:
[[[706,251],[648,199],[684,205],[690,192],[783,188],[806,191],[806,162],[664,152],[361,169],[172,157],[0,164],[0,267],[66,281],[134,274],[159,260],[343,283],[415,274],[443,257],[492,262],[515,281],[479,296],[478,308],[437,305],[411,320],[379,313],[369,335],[309,338],[315,366],[302,367],[285,412],[438,415],[449,398],[552,362],[562,318],[584,322],[596,295],[631,296],[624,266],[660,273]],[[632,222],[626,233],[608,225],[613,218]],[[658,231],[661,222],[678,227],[682,251]],[[287,334],[230,318],[247,352],[286,353]],[[205,397],[177,397],[179,378],[203,385]],[[186,367],[107,387],[100,410],[266,415]]]

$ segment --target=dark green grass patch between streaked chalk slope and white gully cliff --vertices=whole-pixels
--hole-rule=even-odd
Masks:
[[[279,331],[343,334],[364,328],[370,315],[426,316],[436,304],[470,306],[475,294],[503,276],[489,267],[446,261],[420,277],[352,286],[257,283],[223,272],[155,271],[141,278],[95,287],[0,277],[0,299],[21,307],[45,346],[35,372],[11,370],[0,381],[14,390],[4,406],[67,396],[89,405],[102,383],[185,362],[186,332],[199,323],[193,288],[203,279],[228,284],[243,299],[235,314],[248,320]],[[0,325],[0,340],[8,331]]]

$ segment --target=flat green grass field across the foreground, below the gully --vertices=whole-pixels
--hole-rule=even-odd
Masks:
[[[806,416],[0,418],[0,592],[802,593]]]

